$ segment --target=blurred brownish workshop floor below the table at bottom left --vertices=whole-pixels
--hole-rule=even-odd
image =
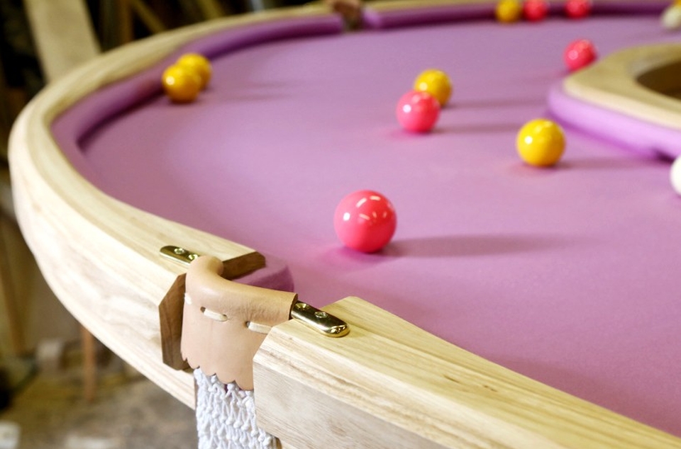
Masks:
[[[97,396],[83,397],[79,366],[38,373],[0,412],[2,424],[17,424],[21,449],[196,448],[194,411],[140,375],[127,374],[120,360],[99,373]],[[111,368],[111,365],[114,368]]]

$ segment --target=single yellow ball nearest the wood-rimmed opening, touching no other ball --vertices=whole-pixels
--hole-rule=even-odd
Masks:
[[[555,165],[565,151],[565,135],[558,124],[538,118],[518,132],[516,147],[521,159],[538,167]]]

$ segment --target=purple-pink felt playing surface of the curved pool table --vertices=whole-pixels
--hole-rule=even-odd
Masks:
[[[358,295],[681,436],[681,198],[668,163],[572,127],[555,169],[516,157],[576,38],[602,55],[678,40],[656,15],[609,15],[270,42],[215,52],[196,103],[151,96],[76,142],[78,108],[102,93],[55,135],[106,193],[287,261],[302,300]],[[453,104],[433,133],[409,135],[394,106],[428,67],[453,77]],[[362,188],[397,209],[379,254],[333,232],[338,201]]]

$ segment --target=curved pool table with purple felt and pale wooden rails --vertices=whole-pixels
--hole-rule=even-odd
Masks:
[[[562,6],[502,24],[493,1],[377,1],[358,30],[303,6],[109,52],[13,129],[23,233],[70,312],[189,405],[159,318],[187,267],[163,246],[245,261],[234,276],[261,269],[241,283],[345,320],[339,339],[274,326],[255,356],[258,419],[287,447],[680,448],[681,125],[664,122],[681,82],[646,74],[681,67],[681,35],[660,26],[667,1]],[[599,62],[571,74],[577,38]],[[646,59],[659,45],[677,57]],[[214,77],[177,104],[160,74],[184,52]],[[453,98],[432,132],[406,132],[397,100],[431,67]],[[516,154],[538,117],[567,140],[548,169]],[[363,188],[397,210],[374,254],[333,232]]]

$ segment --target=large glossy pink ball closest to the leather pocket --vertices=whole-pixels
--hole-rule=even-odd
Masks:
[[[338,203],[333,227],[348,248],[373,253],[392,239],[397,228],[397,215],[384,195],[375,191],[357,191]]]

